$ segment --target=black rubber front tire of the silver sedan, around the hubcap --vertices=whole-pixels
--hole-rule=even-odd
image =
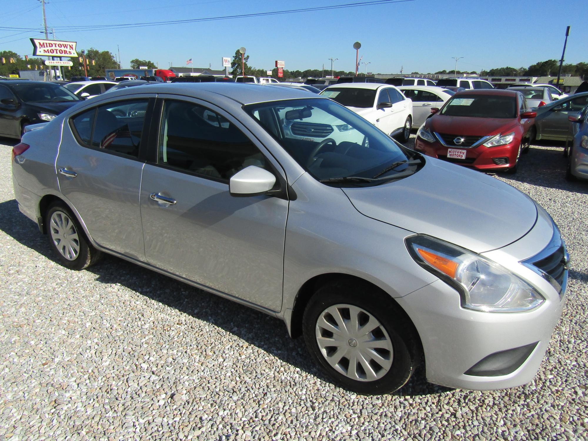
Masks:
[[[327,308],[342,303],[357,306],[372,315],[389,336],[389,341],[392,343],[392,364],[387,371],[380,370],[385,373],[378,379],[356,380],[338,372],[330,366],[319,348],[316,338],[319,318]],[[302,330],[312,359],[333,382],[361,395],[395,392],[406,384],[420,363],[420,340],[412,322],[386,293],[368,284],[339,280],[319,288],[306,305],[302,318]],[[349,345],[353,346],[351,339]],[[355,342],[355,345],[358,345],[358,342]],[[349,363],[349,359],[345,357],[342,360],[347,360]],[[359,364],[357,366],[360,368]],[[349,367],[347,369],[349,372]]]

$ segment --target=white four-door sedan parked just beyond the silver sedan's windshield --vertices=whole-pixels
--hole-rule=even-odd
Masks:
[[[382,132],[406,142],[412,128],[412,101],[395,86],[374,83],[343,83],[320,92],[358,115]]]

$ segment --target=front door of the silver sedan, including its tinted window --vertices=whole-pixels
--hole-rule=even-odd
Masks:
[[[279,165],[222,110],[163,98],[158,151],[145,165],[141,185],[146,259],[279,311],[288,201],[229,193],[229,178],[240,169],[255,165],[281,173]]]

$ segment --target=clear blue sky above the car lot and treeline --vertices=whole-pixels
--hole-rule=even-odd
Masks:
[[[340,5],[360,0],[49,0],[47,24],[129,24],[224,15],[273,12],[284,9]],[[41,28],[37,0],[2,2],[0,26]],[[168,68],[185,66],[220,69],[222,56],[233,56],[245,46],[249,65],[271,69],[276,59],[286,69],[330,69],[329,58],[338,58],[336,69],[353,71],[353,42],[359,55],[370,62],[368,71],[397,73],[453,69],[453,56],[463,56],[459,70],[480,71],[495,67],[529,66],[545,59],[559,59],[567,25],[572,26],[566,62],[588,62],[588,6],[586,0],[550,2],[415,0],[361,8],[302,12],[289,15],[228,19],[136,29],[72,32],[55,31],[57,39],[77,41],[78,50],[94,47],[116,54],[122,65],[133,58],[149,59]],[[23,32],[22,34],[17,34]],[[32,54],[32,31],[0,31],[0,51]],[[49,37],[51,38],[51,36]],[[16,41],[15,41],[16,40]],[[365,68],[360,66],[360,71]]]

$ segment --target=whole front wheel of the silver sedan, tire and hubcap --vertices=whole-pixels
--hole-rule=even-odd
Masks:
[[[362,395],[400,389],[417,365],[412,323],[387,295],[361,283],[320,288],[306,306],[303,334],[325,373]]]

